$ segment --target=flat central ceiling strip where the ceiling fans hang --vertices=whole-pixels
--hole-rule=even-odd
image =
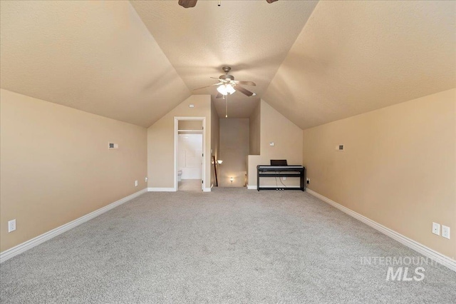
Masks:
[[[172,66],[190,90],[217,83],[231,66],[236,80],[254,81],[244,86],[257,96],[229,96],[229,117],[248,118],[289,49],[301,33],[317,1],[198,1],[183,9],[176,1],[132,1]],[[192,91],[211,94],[220,117],[222,98],[214,99],[215,86]]]

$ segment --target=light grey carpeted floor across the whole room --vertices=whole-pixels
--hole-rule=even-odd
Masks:
[[[367,263],[383,257],[383,263]],[[386,280],[385,259],[408,277]],[[1,303],[456,303],[456,273],[301,191],[145,193],[0,265]],[[409,260],[407,260],[407,258]],[[380,260],[380,259],[378,259]],[[421,278],[418,275],[419,278]]]

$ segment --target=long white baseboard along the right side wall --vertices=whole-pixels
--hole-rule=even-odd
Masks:
[[[365,223],[368,226],[371,226],[375,230],[380,231],[381,233],[388,235],[390,238],[393,238],[394,240],[397,240],[399,243],[406,245],[408,248],[411,248],[418,253],[421,253],[422,255],[425,255],[427,258],[430,258],[431,260],[435,260],[437,263],[440,263],[447,268],[450,268],[453,271],[456,271],[456,260],[453,260],[450,257],[447,257],[446,255],[442,255],[441,253],[438,253],[437,251],[421,244],[418,243],[415,240],[412,240],[405,235],[402,235],[400,233],[395,232],[395,230],[391,230],[390,228],[387,228],[375,221],[372,221],[370,218],[366,218],[366,216],[362,216],[359,213],[356,213],[355,211],[352,211],[351,209],[348,209],[344,206],[342,206],[339,203],[336,203],[335,201],[332,201],[329,198],[326,198],[326,196],[322,196],[319,193],[316,193],[315,191],[310,190],[309,188],[306,189],[306,191],[311,194],[312,196],[315,196],[316,198],[320,198],[321,201],[324,201],[331,206],[338,208],[340,211],[343,211],[344,213],[347,213],[348,216],[352,216],[353,218],[356,218],[358,221],[361,221]]]

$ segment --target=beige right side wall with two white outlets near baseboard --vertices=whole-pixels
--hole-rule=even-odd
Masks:
[[[456,89],[306,129],[309,188],[455,259],[455,138]]]

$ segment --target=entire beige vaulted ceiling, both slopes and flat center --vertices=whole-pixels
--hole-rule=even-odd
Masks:
[[[0,86],[150,126],[222,66],[301,128],[456,86],[455,1],[0,1]]]

